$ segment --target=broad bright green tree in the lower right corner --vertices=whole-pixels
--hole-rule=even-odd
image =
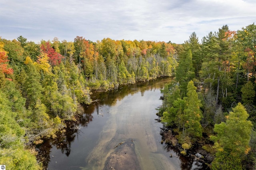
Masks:
[[[227,116],[226,123],[215,125],[214,132],[217,136],[211,136],[217,149],[213,169],[242,169],[242,159],[250,151],[252,123],[247,121],[248,116],[244,106],[238,103]]]

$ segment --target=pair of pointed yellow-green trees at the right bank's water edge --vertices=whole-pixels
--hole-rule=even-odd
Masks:
[[[165,111],[161,121],[166,126],[177,127],[179,132],[179,142],[181,144],[190,144],[197,138],[202,137],[202,106],[194,82],[190,81],[187,87],[187,96],[180,98],[178,86],[170,89],[170,93],[165,94]],[[189,140],[187,140],[189,138]],[[183,141],[183,142],[182,142]],[[185,148],[184,148],[185,149]]]

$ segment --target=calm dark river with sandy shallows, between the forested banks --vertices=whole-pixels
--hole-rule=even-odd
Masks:
[[[161,144],[156,108],[162,104],[160,89],[171,81],[161,78],[94,92],[97,101],[84,108],[80,121],[68,123],[66,132],[38,146],[40,160],[49,170],[204,169]]]

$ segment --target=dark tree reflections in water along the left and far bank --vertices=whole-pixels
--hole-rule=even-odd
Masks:
[[[163,88],[165,83],[170,83],[171,78],[160,78],[154,81],[148,82],[137,82],[133,85],[122,85],[118,90],[106,91],[106,92],[94,92],[91,97],[92,100],[97,100],[91,105],[86,105],[83,107],[78,107],[78,113],[81,117],[79,121],[66,121],[65,131],[60,131],[56,133],[56,138],[54,139],[45,139],[44,143],[36,146],[38,155],[37,158],[42,162],[44,169],[47,169],[50,162],[50,150],[52,145],[56,146],[57,149],[61,149],[62,153],[65,153],[66,156],[69,156],[71,152],[71,143],[75,138],[80,135],[79,126],[87,127],[88,123],[93,120],[93,113],[96,109],[97,115],[100,112],[100,107],[102,105],[115,105],[117,100],[122,100],[129,94],[134,94],[141,92],[141,95],[144,95],[144,92],[148,89]],[[168,150],[168,146],[166,146]],[[184,161],[184,162],[187,162]],[[191,161],[192,162],[192,161]],[[185,167],[185,166],[184,166]]]

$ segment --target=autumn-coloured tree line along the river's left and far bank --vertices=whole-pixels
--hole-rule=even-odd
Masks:
[[[0,38],[0,164],[38,169],[31,144],[76,119],[91,90],[172,76],[179,45],[144,40],[92,42]],[[42,168],[42,167],[41,167]]]

